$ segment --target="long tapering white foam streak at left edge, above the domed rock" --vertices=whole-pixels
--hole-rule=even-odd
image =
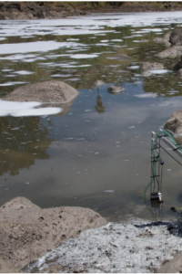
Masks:
[[[16,43],[16,44],[1,44],[0,53],[13,54],[13,53],[25,53],[25,52],[46,52],[48,50],[56,50],[60,47],[78,47],[85,46],[83,44],[74,42],[56,42],[56,41],[37,41],[28,43]]]

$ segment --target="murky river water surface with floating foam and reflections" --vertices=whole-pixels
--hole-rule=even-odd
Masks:
[[[43,207],[90,207],[110,221],[161,215],[143,201],[150,137],[181,109],[182,79],[171,71],[178,58],[157,58],[166,46],[153,39],[181,23],[180,12],[1,22],[0,98],[48,79],[79,91],[67,105],[0,100],[1,205],[21,195]],[[165,69],[144,77],[145,61]],[[162,210],[173,217],[182,168],[163,155]]]

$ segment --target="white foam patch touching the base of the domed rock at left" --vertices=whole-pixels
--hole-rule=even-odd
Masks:
[[[42,108],[43,104],[40,102],[17,102],[9,100],[0,100],[0,117],[3,116],[42,116],[58,114],[63,111],[61,108]],[[39,108],[38,108],[39,107]]]

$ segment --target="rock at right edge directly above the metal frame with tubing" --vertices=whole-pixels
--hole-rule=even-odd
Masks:
[[[165,129],[170,132],[182,133],[182,110],[174,112],[164,125]]]

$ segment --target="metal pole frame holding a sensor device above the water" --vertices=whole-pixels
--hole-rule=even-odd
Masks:
[[[161,145],[164,142],[167,147]],[[162,201],[162,174],[164,160],[161,158],[160,149],[163,149],[169,156],[171,156],[177,163],[182,165],[177,158],[172,155],[176,153],[182,158],[182,146],[177,144],[174,138],[165,130],[160,130],[157,134],[152,132],[151,136],[151,184],[150,184],[150,200],[151,202],[163,203]],[[168,151],[170,149],[170,152]]]

